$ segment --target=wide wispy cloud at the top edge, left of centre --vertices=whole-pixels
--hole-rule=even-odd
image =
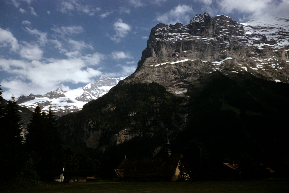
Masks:
[[[82,5],[79,0],[58,1],[57,9],[63,14],[84,13],[93,16],[100,8],[93,8],[92,5]]]

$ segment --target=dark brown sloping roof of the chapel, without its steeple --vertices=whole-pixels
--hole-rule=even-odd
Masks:
[[[182,155],[126,159],[115,169],[118,177],[167,177],[171,178]]]

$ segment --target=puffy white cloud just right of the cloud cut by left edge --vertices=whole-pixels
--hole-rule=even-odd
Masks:
[[[20,57],[28,60],[40,60],[43,55],[43,51],[36,44],[29,44],[23,42],[23,46],[20,50]]]

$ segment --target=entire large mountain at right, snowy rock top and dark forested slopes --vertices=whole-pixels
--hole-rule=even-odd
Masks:
[[[241,24],[204,13],[187,25],[160,23],[133,74],[59,119],[64,142],[107,164],[159,155],[168,133],[190,176],[212,179],[225,160],[247,177],[261,163],[284,173],[288,38],[288,18]]]

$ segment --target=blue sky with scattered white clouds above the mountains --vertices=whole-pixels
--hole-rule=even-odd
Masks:
[[[2,97],[132,74],[158,23],[196,14],[237,22],[289,15],[289,0],[0,0]]]

